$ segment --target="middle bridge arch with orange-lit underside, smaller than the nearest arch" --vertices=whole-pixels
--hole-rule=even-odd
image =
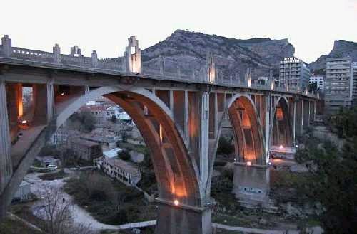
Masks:
[[[237,94],[227,106],[239,162],[265,165],[263,130],[256,106],[249,95]]]

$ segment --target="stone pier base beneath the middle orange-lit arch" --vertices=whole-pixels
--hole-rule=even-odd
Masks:
[[[241,206],[266,205],[270,190],[269,179],[268,166],[234,163],[233,193]]]

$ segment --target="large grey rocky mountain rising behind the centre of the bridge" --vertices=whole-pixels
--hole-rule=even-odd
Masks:
[[[243,78],[247,68],[254,76],[269,74],[270,68],[278,68],[283,57],[291,57],[295,48],[287,39],[251,38],[238,40],[223,36],[207,35],[176,30],[171,36],[142,51],[144,69],[158,69],[160,56],[164,58],[167,72],[191,75],[206,64],[206,53],[216,57],[221,75]]]

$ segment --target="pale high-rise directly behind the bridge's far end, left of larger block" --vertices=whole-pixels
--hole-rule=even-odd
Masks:
[[[305,90],[308,87],[310,77],[310,70],[306,68],[303,60],[291,57],[280,61],[280,73],[277,85],[298,87],[300,90]]]

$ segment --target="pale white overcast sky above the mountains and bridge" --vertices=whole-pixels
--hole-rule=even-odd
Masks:
[[[84,55],[122,55],[135,35],[141,49],[176,29],[228,38],[288,38],[310,63],[333,41],[357,42],[357,0],[11,0],[1,1],[0,34],[13,46],[61,53],[79,45]]]

